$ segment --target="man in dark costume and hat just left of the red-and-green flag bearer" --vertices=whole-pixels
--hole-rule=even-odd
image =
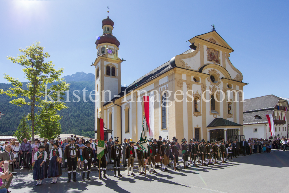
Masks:
[[[93,150],[90,146],[91,146],[91,143],[87,140],[85,142],[85,147],[82,149],[82,157],[84,159],[84,167],[83,167],[83,171],[82,171],[82,181],[84,181],[85,172],[86,172],[87,167],[88,167],[88,169],[87,169],[86,179],[90,180],[90,178],[89,178],[90,168],[91,168],[91,163],[94,160]]]

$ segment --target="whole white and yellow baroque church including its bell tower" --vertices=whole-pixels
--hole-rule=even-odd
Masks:
[[[102,21],[103,35],[95,43],[98,54],[93,63],[95,120],[101,108],[105,128],[112,130],[113,137],[140,138],[145,94],[155,99],[155,139],[211,141],[243,135],[242,90],[246,83],[229,60],[234,50],[216,31],[193,37],[186,52],[122,87],[121,75],[128,75],[121,74],[123,60],[118,58],[120,43],[112,35],[113,25],[109,17]],[[229,95],[227,91],[233,92]]]

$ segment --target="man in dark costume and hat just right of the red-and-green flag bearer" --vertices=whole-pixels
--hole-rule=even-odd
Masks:
[[[116,169],[117,169],[117,176],[122,177],[121,175],[121,166],[119,165],[121,160],[121,146],[118,145],[118,137],[114,137],[114,145],[111,146],[111,158],[113,159],[113,169],[114,169],[114,176],[116,177]],[[117,166],[117,168],[116,168]]]

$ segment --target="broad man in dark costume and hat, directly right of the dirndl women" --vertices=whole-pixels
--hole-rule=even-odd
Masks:
[[[76,165],[80,161],[80,151],[75,138],[70,139],[70,144],[65,146],[64,162],[68,163],[68,183],[71,182],[71,172],[73,172],[73,181],[76,182]]]

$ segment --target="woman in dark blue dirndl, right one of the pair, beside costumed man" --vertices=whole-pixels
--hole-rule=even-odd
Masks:
[[[50,151],[50,161],[48,166],[48,177],[52,178],[52,182],[50,184],[56,184],[57,178],[62,175],[62,150],[59,148],[58,141],[54,141],[53,147],[54,148]]]

